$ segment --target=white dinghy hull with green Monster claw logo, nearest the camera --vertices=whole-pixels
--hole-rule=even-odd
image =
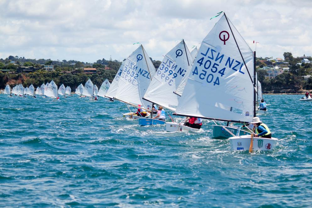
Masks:
[[[232,150],[249,150],[251,135],[230,137],[230,144]],[[253,138],[253,150],[271,151],[276,147],[276,138]]]

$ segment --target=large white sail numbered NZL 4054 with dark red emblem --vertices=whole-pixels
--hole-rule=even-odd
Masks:
[[[254,76],[254,55],[227,20],[223,14],[203,40],[179,100],[177,115],[251,122],[254,86],[249,73]]]

